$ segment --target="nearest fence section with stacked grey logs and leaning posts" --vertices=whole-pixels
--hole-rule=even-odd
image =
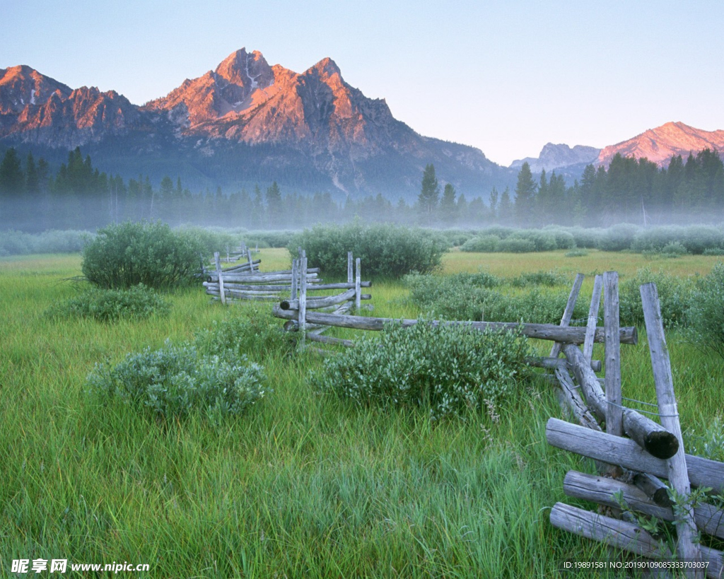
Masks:
[[[561,326],[571,321],[582,281],[579,275]],[[591,363],[592,335],[602,290],[605,379],[596,376]],[[633,567],[635,570],[674,569],[692,578],[722,578],[722,551],[704,544],[700,536],[703,533],[724,539],[724,511],[707,502],[705,495],[692,504],[691,487],[707,487],[723,494],[724,463],[685,454],[655,284],[641,286],[641,300],[657,398],[657,412],[649,413],[657,415],[661,423],[623,404],[628,399],[621,394],[618,274],[596,276],[583,351],[572,343],[561,342],[551,352],[565,356],[565,361],[555,365],[555,379],[561,402],[578,425],[550,418],[546,439],[554,447],[597,461],[596,475],[570,471],[563,481],[563,491],[601,507],[591,512],[559,502],[552,508],[550,522],[556,528],[649,559]],[[660,478],[667,478],[672,490]],[[672,502],[670,496],[677,500]],[[673,521],[673,550],[641,528],[636,513]]]

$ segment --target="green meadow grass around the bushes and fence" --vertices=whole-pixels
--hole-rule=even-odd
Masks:
[[[261,259],[265,271],[290,262],[282,249]],[[586,299],[589,274],[626,279],[647,266],[695,276],[716,261],[454,251],[439,275],[557,269],[572,282],[581,271]],[[595,470],[546,444],[546,420],[561,417],[546,381],[521,380],[513,400],[480,415],[431,422],[424,409],[315,392],[308,374],[321,358],[312,352],[253,352],[273,392],[248,413],[221,426],[202,415],[159,420],[90,396],[96,363],[192,339],[242,308],[270,316],[270,306],[224,308],[194,287],[168,295],[165,317],[45,316],[76,294],[68,279],[79,275],[80,255],[0,259],[1,575],[13,559],[68,559],[148,564],[143,576],[153,578],[568,578],[576,575],[560,573],[564,560],[612,556],[549,523],[566,471]],[[401,282],[373,282],[372,315],[419,316]],[[723,362],[677,331],[667,339],[688,442],[722,413]],[[621,350],[624,396],[654,402],[644,329]]]

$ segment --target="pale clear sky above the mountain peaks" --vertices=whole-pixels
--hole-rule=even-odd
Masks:
[[[493,161],[602,147],[669,121],[724,129],[724,1],[0,0],[0,68],[133,103],[232,51],[329,56],[423,135]]]

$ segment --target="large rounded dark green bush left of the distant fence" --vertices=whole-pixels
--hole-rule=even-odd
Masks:
[[[143,284],[155,289],[193,282],[203,244],[193,232],[174,232],[160,222],[111,224],[83,248],[81,269],[98,287]]]

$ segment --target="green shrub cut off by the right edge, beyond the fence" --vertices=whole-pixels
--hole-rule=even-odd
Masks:
[[[696,284],[689,324],[696,344],[724,358],[724,263],[716,263]]]

